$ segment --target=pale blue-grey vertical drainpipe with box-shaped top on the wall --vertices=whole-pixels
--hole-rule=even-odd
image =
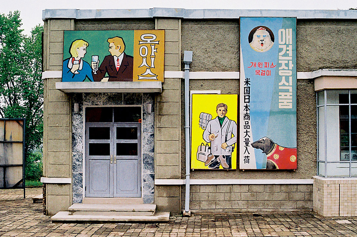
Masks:
[[[192,51],[183,52],[183,62],[185,63],[185,143],[186,143],[186,192],[185,211],[183,216],[191,216],[190,211],[190,64],[192,62]]]

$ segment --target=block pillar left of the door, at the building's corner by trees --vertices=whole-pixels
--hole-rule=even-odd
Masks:
[[[73,20],[48,20],[44,24],[44,70],[62,70],[63,32],[73,30]],[[44,80],[44,177],[71,177],[70,98],[56,90],[60,78]],[[70,206],[71,184],[46,184],[48,215]]]

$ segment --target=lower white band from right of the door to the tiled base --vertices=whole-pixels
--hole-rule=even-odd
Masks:
[[[183,179],[155,179],[155,185],[185,185],[186,180]],[[291,179],[291,180],[246,180],[246,179],[236,179],[236,180],[190,180],[190,185],[252,185],[252,184],[313,184],[313,179]]]

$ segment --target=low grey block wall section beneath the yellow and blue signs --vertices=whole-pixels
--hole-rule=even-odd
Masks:
[[[185,190],[182,189],[182,208]],[[311,210],[312,185],[191,185],[192,212]]]

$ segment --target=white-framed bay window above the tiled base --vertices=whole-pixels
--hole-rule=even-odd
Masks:
[[[357,177],[357,90],[317,92],[317,175]]]

